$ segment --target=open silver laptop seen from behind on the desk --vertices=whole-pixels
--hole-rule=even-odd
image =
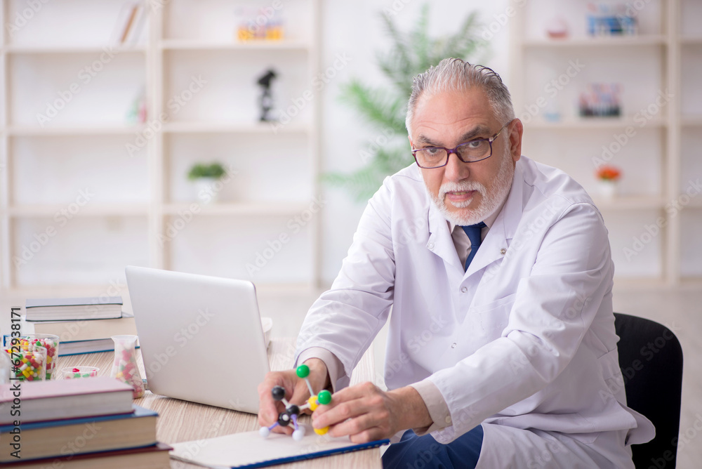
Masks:
[[[257,414],[269,366],[253,284],[131,265],[125,272],[149,389]]]

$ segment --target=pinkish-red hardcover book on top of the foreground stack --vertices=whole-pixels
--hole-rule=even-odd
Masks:
[[[0,425],[129,414],[132,388],[115,378],[13,381],[0,385]]]

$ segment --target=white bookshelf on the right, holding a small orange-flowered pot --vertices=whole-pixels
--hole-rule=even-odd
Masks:
[[[626,37],[588,37],[585,2],[539,0],[513,7],[510,89],[517,117],[527,118],[522,152],[564,169],[592,194],[609,229],[618,284],[700,284],[702,252],[693,233],[702,229],[702,194],[684,195],[689,179],[702,178],[699,2],[646,2],[637,11],[637,35]],[[565,39],[545,32],[556,15],[569,25]],[[571,61],[585,66],[567,74]],[[560,87],[547,93],[552,79],[560,79]],[[623,84],[623,117],[578,117],[577,95],[593,82]],[[647,114],[664,91],[664,104]],[[544,119],[546,106],[534,107],[540,98],[559,111],[559,120]],[[529,109],[536,112],[525,114]],[[617,145],[627,129],[633,135]],[[621,194],[611,200],[599,197],[595,185],[595,161],[604,155],[623,171]],[[663,227],[656,232],[658,220]]]

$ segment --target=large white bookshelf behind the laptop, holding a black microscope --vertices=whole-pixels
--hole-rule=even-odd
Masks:
[[[239,10],[269,6],[259,0],[145,2],[143,34],[115,46],[128,4],[48,2],[18,31],[4,29],[0,289],[95,291],[124,284],[130,264],[316,286],[320,103],[311,83],[319,73],[320,1],[277,11],[285,39],[247,42],[236,39]],[[25,0],[2,0],[3,24],[24,8]],[[110,60],[86,82],[79,71],[106,52]],[[289,124],[276,128],[258,121],[256,79],[268,67],[279,75],[274,112],[312,92]],[[188,94],[192,77],[206,84]],[[37,113],[72,84],[79,93],[39,125]],[[147,122],[128,123],[139,93]],[[187,100],[173,112],[176,95]],[[163,113],[168,119],[159,121]],[[143,145],[140,136],[147,136]],[[138,150],[131,154],[128,145]],[[219,202],[204,204],[186,175],[192,164],[211,161],[234,173]],[[85,188],[93,195],[79,204]],[[17,265],[47,230],[56,232],[46,235],[50,242]],[[246,266],[282,234],[289,238],[284,249],[251,274]]]

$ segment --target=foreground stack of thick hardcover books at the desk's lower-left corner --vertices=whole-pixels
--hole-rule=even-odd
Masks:
[[[107,377],[18,383],[0,385],[0,468],[170,468],[171,447],[156,440],[158,414],[132,404],[130,385]]]

